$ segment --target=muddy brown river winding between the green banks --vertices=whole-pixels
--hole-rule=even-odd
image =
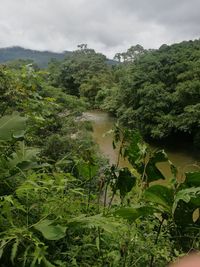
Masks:
[[[111,117],[108,113],[92,110],[84,113],[84,117],[92,122],[93,138],[99,145],[100,151],[107,157],[110,163],[116,163],[118,157],[117,149],[112,147],[113,135],[109,131],[113,128],[115,118]],[[153,147],[161,148],[161,147]],[[185,171],[199,170],[196,166],[199,163],[198,155],[192,150],[188,144],[174,144],[173,147],[164,148],[170,161],[178,168],[180,175]],[[120,166],[129,166],[127,161],[121,159]],[[171,176],[169,166],[166,163],[159,165],[160,170],[167,176]]]

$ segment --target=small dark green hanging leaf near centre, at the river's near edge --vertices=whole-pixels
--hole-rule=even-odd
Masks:
[[[125,195],[131,191],[135,184],[136,177],[129,171],[128,168],[123,168],[119,171],[116,189],[120,191],[121,197],[125,197]]]

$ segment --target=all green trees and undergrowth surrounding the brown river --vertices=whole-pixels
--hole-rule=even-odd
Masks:
[[[199,250],[200,167],[180,177],[144,140],[200,148],[200,41],[114,59],[81,44],[46,69],[0,65],[2,267],[164,267]],[[92,139],[88,109],[117,118],[116,164]]]

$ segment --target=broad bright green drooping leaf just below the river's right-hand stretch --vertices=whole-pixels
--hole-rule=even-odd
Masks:
[[[153,185],[145,190],[144,198],[162,207],[163,211],[171,213],[173,205],[173,190],[163,185]]]

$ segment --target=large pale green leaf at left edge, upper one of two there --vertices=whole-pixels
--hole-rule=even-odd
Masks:
[[[19,138],[24,135],[27,118],[18,113],[6,115],[0,118],[0,141],[10,141],[13,137]]]

